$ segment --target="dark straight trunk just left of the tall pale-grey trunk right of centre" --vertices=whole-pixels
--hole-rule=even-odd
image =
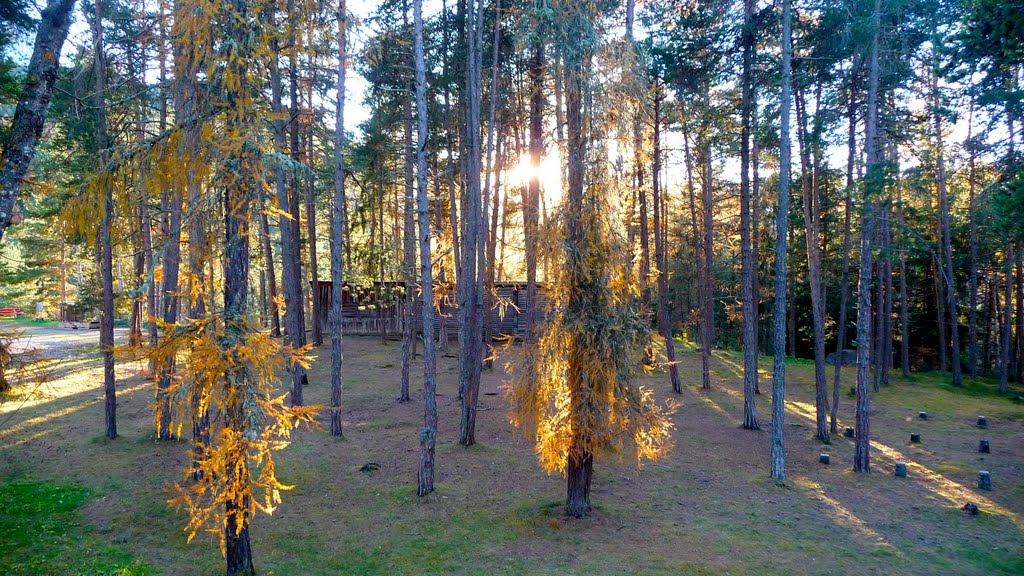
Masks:
[[[758,381],[758,322],[757,302],[754,301],[754,276],[757,275],[754,254],[751,252],[751,110],[754,101],[754,0],[743,0],[743,29],[740,37],[743,46],[743,71],[740,127],[739,167],[739,243],[742,259],[742,335],[743,335],[743,427],[761,429],[757,415]]]

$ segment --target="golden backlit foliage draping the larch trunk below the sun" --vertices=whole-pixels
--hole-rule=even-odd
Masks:
[[[645,368],[651,331],[617,249],[613,210],[602,209],[600,192],[589,196],[584,238],[553,266],[548,317],[522,361],[507,367],[512,423],[534,434],[542,466],[562,474],[570,449],[656,459],[670,449],[673,427],[671,407],[632,382]]]

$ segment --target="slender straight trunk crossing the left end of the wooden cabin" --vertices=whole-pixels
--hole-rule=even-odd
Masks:
[[[414,0],[417,9],[420,0]],[[417,12],[418,13],[418,12]],[[338,87],[334,124],[334,202],[331,206],[331,436],[341,436],[342,287],[345,285],[345,67],[347,66],[348,14],[345,0],[338,0]],[[418,37],[419,38],[419,37]]]

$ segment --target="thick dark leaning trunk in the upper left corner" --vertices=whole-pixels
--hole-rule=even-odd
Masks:
[[[36,155],[46,109],[59,70],[60,49],[68,38],[75,0],[50,0],[39,14],[36,42],[26,70],[14,118],[0,141],[0,240],[10,225],[22,179]]]

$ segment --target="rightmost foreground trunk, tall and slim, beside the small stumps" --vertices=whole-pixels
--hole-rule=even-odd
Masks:
[[[882,0],[874,0],[871,15],[871,48],[867,79],[867,122],[865,148],[867,152],[867,186],[864,189],[863,220],[860,239],[860,279],[858,281],[857,305],[857,414],[856,443],[853,469],[858,472],[870,471],[870,398],[867,392],[869,375],[870,344],[868,331],[871,323],[871,240],[874,236],[874,198],[881,187],[879,174],[879,36],[882,15]]]

